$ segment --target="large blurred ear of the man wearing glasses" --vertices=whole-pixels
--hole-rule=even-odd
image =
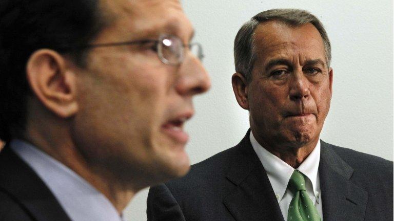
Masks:
[[[77,112],[75,75],[62,55],[49,49],[35,51],[26,74],[33,93],[52,113],[68,118]]]

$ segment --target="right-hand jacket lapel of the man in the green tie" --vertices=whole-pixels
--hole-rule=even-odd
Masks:
[[[364,220],[368,192],[350,182],[354,170],[321,141],[319,176],[324,221]]]

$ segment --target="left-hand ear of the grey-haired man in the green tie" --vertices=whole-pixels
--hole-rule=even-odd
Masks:
[[[231,77],[232,90],[238,104],[244,108],[249,109],[248,100],[248,84],[246,78],[241,73],[234,73]]]

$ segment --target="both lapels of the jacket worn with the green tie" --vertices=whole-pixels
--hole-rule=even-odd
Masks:
[[[249,140],[250,129],[235,146],[227,179],[235,185],[223,203],[237,221],[280,220],[283,216],[266,171]],[[324,221],[364,220],[368,192],[353,184],[354,169],[321,141],[319,165]]]

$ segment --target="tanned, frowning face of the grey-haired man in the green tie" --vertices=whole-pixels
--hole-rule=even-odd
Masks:
[[[257,60],[247,87],[254,135],[284,148],[317,142],[332,93],[318,30],[269,21],[254,38]]]

